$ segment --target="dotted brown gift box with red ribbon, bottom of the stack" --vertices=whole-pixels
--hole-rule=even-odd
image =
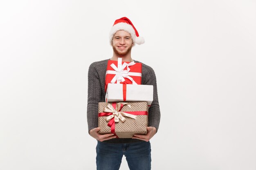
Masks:
[[[148,102],[126,102],[130,104],[130,107],[125,104],[122,106],[121,110],[119,110],[119,114],[120,112],[123,112],[135,115],[136,119],[124,116],[126,119],[124,122],[122,122],[121,119],[118,119],[117,117],[113,117],[110,119],[110,121],[106,121],[106,118],[109,115],[117,113],[115,112],[115,105],[118,103],[119,102],[99,102],[98,126],[101,128],[99,134],[111,133],[111,129],[112,133],[115,133],[118,138],[132,138],[134,134],[146,134],[148,126]],[[103,111],[104,108],[108,108],[108,104],[114,106],[112,108],[114,110],[113,113],[106,112],[106,110],[105,112]],[[115,122],[115,119],[118,119],[119,122]],[[110,128],[109,122],[111,121],[114,122],[114,125],[112,125]]]

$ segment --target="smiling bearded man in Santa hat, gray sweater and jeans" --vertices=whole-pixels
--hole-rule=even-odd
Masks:
[[[121,57],[125,62],[138,62],[131,58],[131,49],[135,43],[143,44],[144,39],[139,37],[132,22],[126,17],[116,20],[110,31],[113,56],[108,60],[117,61],[118,57]],[[113,133],[101,135],[98,127],[98,103],[105,102],[104,86],[108,60],[92,63],[88,71],[87,120],[89,134],[98,140],[97,170],[119,170],[123,155],[126,157],[130,170],[150,170],[149,140],[156,134],[160,121],[155,73],[151,67],[142,63],[141,84],[154,87],[153,102],[148,110],[147,134],[136,134],[131,139],[116,138]]]

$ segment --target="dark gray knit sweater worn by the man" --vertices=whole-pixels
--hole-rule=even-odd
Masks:
[[[138,61],[134,61],[138,62]],[[98,103],[105,102],[105,76],[108,60],[94,62],[90,65],[88,71],[88,105],[87,105],[87,121],[88,131],[98,127]],[[157,97],[157,82],[155,72],[150,66],[142,63],[141,84],[153,85],[153,102],[148,110],[148,126],[153,126],[158,130],[160,121],[160,109]],[[134,143],[139,139],[116,138],[106,140],[107,143]]]

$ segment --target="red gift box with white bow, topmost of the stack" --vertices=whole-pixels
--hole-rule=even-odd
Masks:
[[[122,62],[122,58],[117,61],[108,60],[105,80],[105,92],[109,83],[141,84],[141,63]]]

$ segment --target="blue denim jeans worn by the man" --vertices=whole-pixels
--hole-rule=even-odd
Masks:
[[[151,169],[150,142],[109,144],[98,141],[96,147],[97,170],[119,170],[123,155],[130,170]]]

